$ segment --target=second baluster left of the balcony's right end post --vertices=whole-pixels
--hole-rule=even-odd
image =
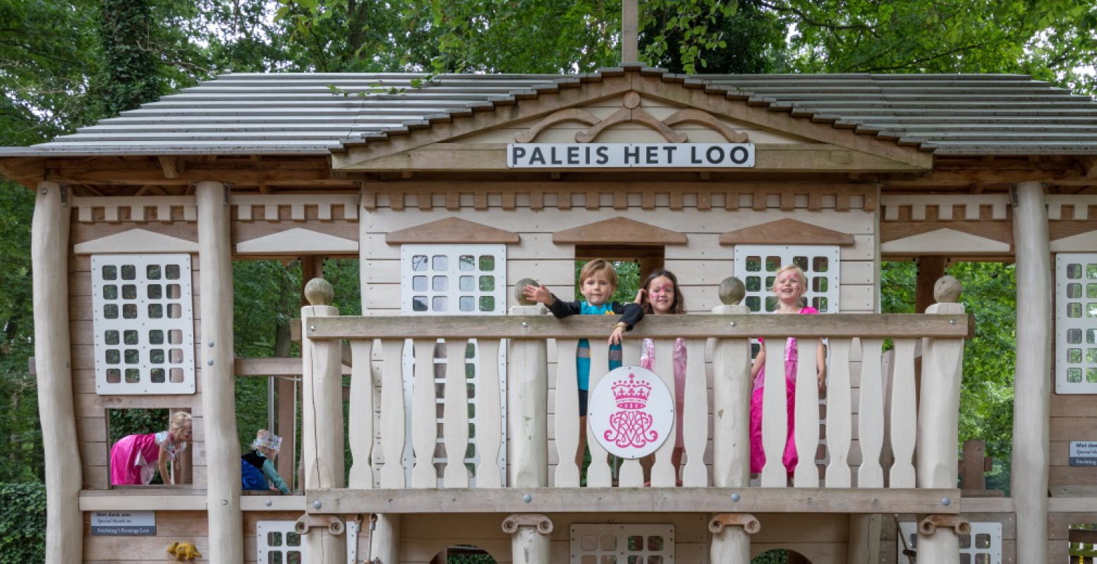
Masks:
[[[861,399],[857,414],[862,461],[857,471],[857,487],[884,487],[884,471],[880,466],[884,442],[883,342],[883,339],[861,339]]]

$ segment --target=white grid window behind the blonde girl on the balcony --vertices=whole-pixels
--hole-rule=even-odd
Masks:
[[[789,264],[807,277],[804,305],[822,313],[838,312],[838,247],[835,245],[736,245],[735,277],[746,286],[743,304],[751,312],[773,312],[770,292],[777,271]]]

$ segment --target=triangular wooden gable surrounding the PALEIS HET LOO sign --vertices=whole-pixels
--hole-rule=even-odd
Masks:
[[[590,110],[618,103],[618,110],[602,114]],[[644,104],[665,110],[647,112]],[[921,172],[932,167],[931,155],[895,140],[815,123],[728,99],[722,90],[689,88],[638,70],[474,110],[421,128],[347,144],[344,151],[332,155],[332,169],[506,171],[510,170],[508,143],[544,143],[554,139],[550,133],[565,124],[573,129],[578,124],[576,143],[620,143],[637,132],[654,132],[661,143],[682,143],[689,139],[689,127],[719,137],[712,140],[754,143],[755,167],[736,169],[740,172]],[[623,137],[613,136],[622,129],[626,132]],[[753,135],[757,138],[750,132],[757,132]]]

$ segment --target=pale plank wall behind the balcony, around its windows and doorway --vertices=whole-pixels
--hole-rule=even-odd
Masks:
[[[783,218],[792,218],[810,223],[840,233],[851,234],[855,245],[841,247],[840,259],[840,302],[842,313],[873,313],[875,311],[875,235],[874,215],[861,208],[836,211],[832,196],[829,206],[821,211],[806,210],[806,196],[798,196],[796,207],[792,211],[781,211],[774,207],[755,210],[753,205],[725,210],[724,194],[712,194],[712,206],[701,211],[698,208],[698,194],[683,188],[681,207],[671,208],[668,193],[654,195],[655,207],[643,208],[643,195],[627,193],[627,207],[613,208],[614,194],[608,193],[604,184],[588,187],[585,184],[567,184],[570,192],[567,196],[570,208],[559,208],[557,193],[543,195],[544,207],[531,210],[530,195],[517,194],[513,207],[505,208],[501,194],[486,194],[486,208],[474,208],[473,194],[461,194],[461,206],[457,210],[446,210],[443,193],[431,193],[430,188],[420,188],[419,192],[400,190],[404,183],[385,183],[381,187],[392,187],[394,192],[378,191],[373,210],[363,210],[363,311],[365,315],[399,315],[400,279],[399,279],[399,245],[388,245],[385,235],[398,229],[416,227],[446,217],[460,217],[470,222],[490,225],[491,227],[518,233],[521,240],[507,248],[507,300],[508,307],[517,305],[513,301],[513,284],[522,278],[533,278],[547,285],[563,300],[574,300],[574,260],[575,247],[555,245],[553,233],[588,225],[595,222],[624,216],[630,219],[654,225],[674,232],[685,233],[688,244],[667,246],[665,251],[666,268],[674,271],[682,286],[686,303],[690,313],[706,313],[720,304],[716,290],[720,282],[734,273],[734,247],[720,245],[720,234],[730,230],[767,224]],[[563,185],[563,184],[562,184]],[[372,188],[377,188],[373,184]],[[444,187],[433,188],[434,191]],[[597,208],[587,206],[587,190],[599,192]],[[669,190],[669,188],[668,188]],[[821,191],[826,192],[825,188]],[[403,206],[393,210],[394,198],[400,199]],[[418,205],[419,198],[430,198],[432,206],[423,210]],[[767,196],[761,196],[767,198]],[[433,205],[437,200],[437,205]],[[779,201],[780,198],[778,196]],[[509,207],[509,206],[508,206]],[[851,351],[852,406],[857,409],[860,383],[860,347]],[[555,466],[554,422],[551,406],[554,405],[555,351],[550,347],[550,465]],[[711,387],[711,363],[708,366],[709,385]],[[380,382],[377,382],[380,384]],[[380,399],[380,397],[377,398]],[[380,408],[380,401],[375,404]],[[857,442],[857,420],[855,415],[853,445],[850,460],[853,465],[860,464],[860,448]],[[711,421],[710,421],[711,427]],[[711,448],[706,455],[711,464]],[[550,480],[553,475],[550,470]],[[856,472],[855,472],[856,475]]]

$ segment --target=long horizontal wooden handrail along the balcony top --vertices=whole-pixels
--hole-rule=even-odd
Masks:
[[[310,339],[561,339],[607,337],[612,324],[597,316],[343,316],[308,318]],[[970,338],[971,315],[834,314],[649,316],[630,338],[935,337]]]

